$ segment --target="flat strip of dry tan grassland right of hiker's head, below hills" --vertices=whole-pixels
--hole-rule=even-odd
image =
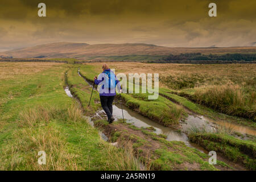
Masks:
[[[102,63],[88,63],[95,65],[100,73]],[[196,86],[218,85],[227,81],[235,84],[255,86],[256,64],[146,64],[146,63],[127,63],[109,62],[110,68],[114,68],[117,73],[159,73],[160,86],[161,78],[172,76],[179,78],[198,78]],[[254,79],[254,80],[253,80]],[[170,80],[171,82],[172,80]]]

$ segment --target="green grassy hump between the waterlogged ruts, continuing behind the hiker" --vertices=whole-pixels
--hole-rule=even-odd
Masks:
[[[88,81],[93,81],[93,77],[98,73],[94,67],[88,65],[80,66],[80,73]],[[153,119],[161,125],[174,127],[185,113],[182,107],[170,102],[167,98],[159,96],[156,100],[148,100],[148,93],[145,94],[121,94],[125,105],[138,113]]]

